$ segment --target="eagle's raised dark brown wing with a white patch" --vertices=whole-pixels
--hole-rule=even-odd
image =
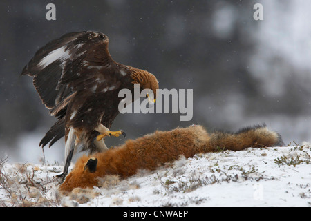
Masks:
[[[113,70],[115,67],[106,35],[72,32],[40,48],[21,75],[33,76],[37,93],[50,114],[63,117],[77,92],[85,90],[85,95],[91,95],[115,86],[122,77],[122,72]]]

